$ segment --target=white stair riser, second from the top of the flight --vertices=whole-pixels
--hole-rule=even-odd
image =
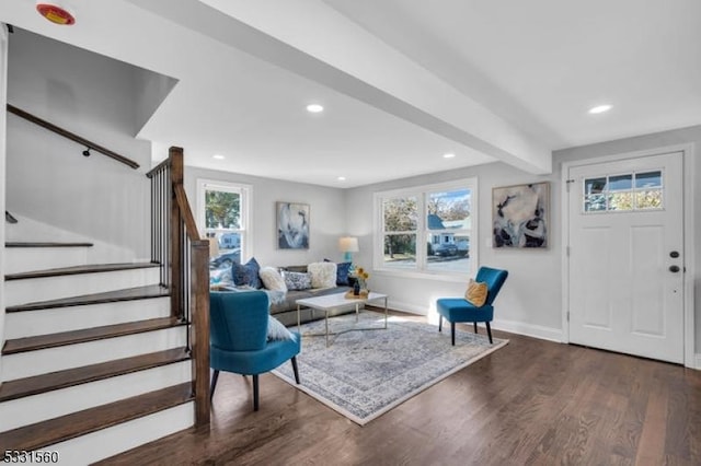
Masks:
[[[37,301],[103,293],[124,288],[158,284],[158,282],[159,269],[156,267],[10,280],[5,281],[4,303],[7,306],[13,306]]]

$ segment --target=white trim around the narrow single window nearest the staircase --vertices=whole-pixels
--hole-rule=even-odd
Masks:
[[[239,193],[241,195],[241,231],[245,232],[242,240],[242,249],[245,257],[241,256],[241,264],[253,257],[253,186],[243,183],[223,182],[220,179],[197,179],[197,228],[199,234],[205,237],[205,191],[207,189],[221,189],[225,191]]]

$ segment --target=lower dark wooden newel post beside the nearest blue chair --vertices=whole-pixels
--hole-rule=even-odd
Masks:
[[[192,242],[193,389],[195,423],[209,424],[209,241]]]

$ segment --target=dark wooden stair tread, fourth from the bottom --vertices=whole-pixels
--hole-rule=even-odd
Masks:
[[[118,301],[134,301],[151,298],[169,296],[170,291],[160,284],[126,288],[123,290],[107,291],[104,293],[83,294],[81,296],[64,298],[60,300],[36,301],[33,303],[8,306],[5,312],[36,311],[55,307],[82,306],[88,304],[104,304]]]

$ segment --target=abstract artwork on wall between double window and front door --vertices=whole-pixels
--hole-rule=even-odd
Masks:
[[[549,217],[549,182],[493,188],[493,247],[548,247]]]

